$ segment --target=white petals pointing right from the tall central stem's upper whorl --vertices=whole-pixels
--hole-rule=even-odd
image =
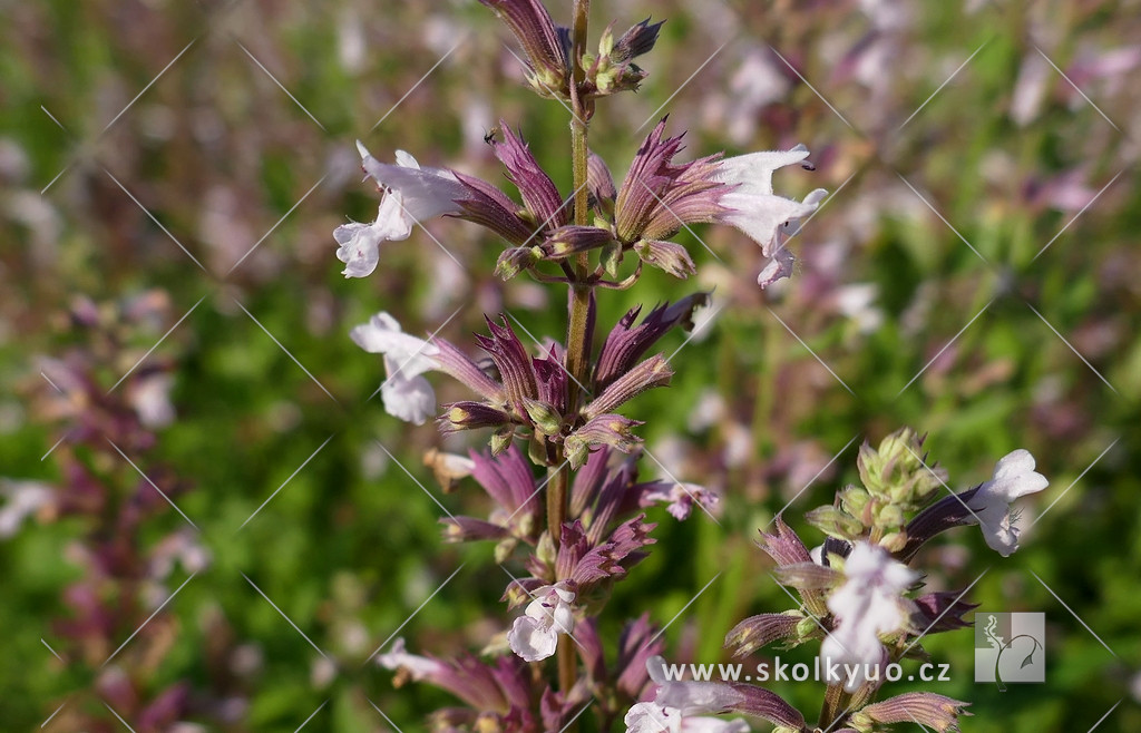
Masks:
[[[761,245],[764,256],[772,258],[756,278],[761,287],[792,274],[793,255],[784,243],[798,231],[796,220],[816,211],[827,195],[818,188],[798,202],[772,194],[772,171],[807,157],[803,145],[791,150],[750,153],[721,161],[713,174],[713,180],[736,186],[721,197],[725,211],[718,220],[743,231]]]

